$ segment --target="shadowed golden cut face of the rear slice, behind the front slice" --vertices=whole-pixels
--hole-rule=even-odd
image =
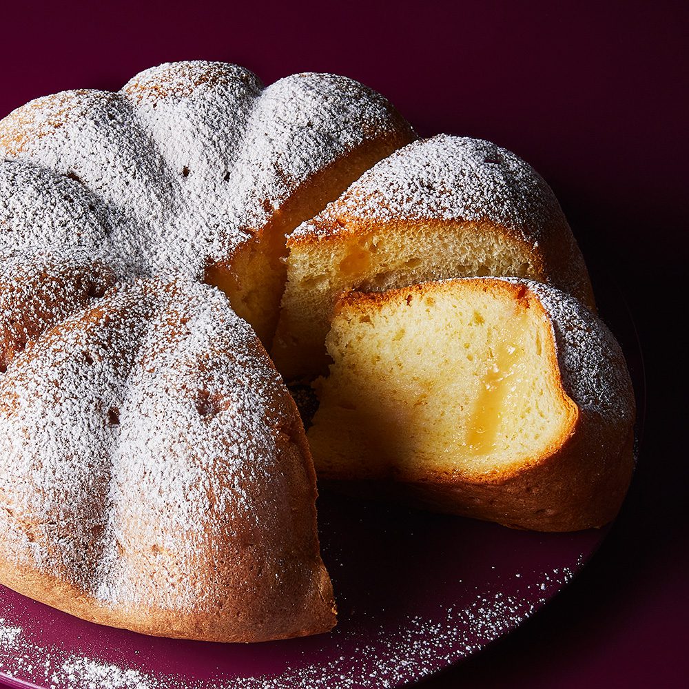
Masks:
[[[529,247],[490,223],[398,221],[316,241],[295,236],[288,245],[289,280],[272,351],[288,380],[327,371],[325,336],[342,292],[466,276],[543,279]]]

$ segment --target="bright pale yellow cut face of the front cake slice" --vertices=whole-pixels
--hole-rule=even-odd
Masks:
[[[454,280],[341,302],[309,430],[319,476],[485,475],[548,453],[575,410],[523,291]]]

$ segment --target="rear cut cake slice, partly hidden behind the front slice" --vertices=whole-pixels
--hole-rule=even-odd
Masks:
[[[426,280],[517,276],[594,307],[584,259],[550,187],[488,141],[434,136],[391,154],[287,239],[271,351],[285,378],[327,371],[338,295]]]

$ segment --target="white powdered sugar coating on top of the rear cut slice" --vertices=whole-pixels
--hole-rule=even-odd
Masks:
[[[485,220],[537,242],[564,221],[550,187],[520,158],[489,141],[438,134],[415,141],[374,165],[324,214],[376,220]],[[307,221],[298,234],[322,232]]]

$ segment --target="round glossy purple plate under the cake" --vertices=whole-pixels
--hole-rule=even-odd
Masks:
[[[598,276],[601,313],[635,382],[640,437],[639,340],[619,290],[604,271]],[[90,624],[0,586],[0,681],[41,689],[402,686],[533,615],[608,531],[513,531],[326,492],[318,510],[339,609],[332,633],[247,645],[159,639]]]

